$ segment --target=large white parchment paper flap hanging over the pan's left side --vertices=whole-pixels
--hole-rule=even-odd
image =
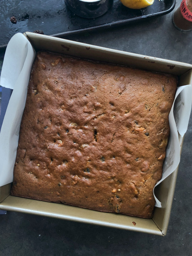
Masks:
[[[35,51],[21,33],[7,45],[0,85],[13,89],[0,132],[0,186],[13,181],[13,167],[19,140],[20,122]]]

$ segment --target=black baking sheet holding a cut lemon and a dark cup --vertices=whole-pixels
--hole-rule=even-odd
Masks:
[[[151,6],[133,10],[114,0],[111,9],[104,15],[85,19],[71,12],[64,0],[0,0],[0,47],[6,46],[17,32],[40,29],[45,35],[64,36],[164,15],[174,7],[175,0],[155,0]],[[13,15],[17,19],[16,24],[10,21]]]

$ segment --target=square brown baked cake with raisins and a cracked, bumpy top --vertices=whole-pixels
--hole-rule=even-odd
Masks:
[[[151,218],[177,80],[38,52],[12,195]]]

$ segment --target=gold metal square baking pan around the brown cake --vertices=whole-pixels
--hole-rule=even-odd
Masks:
[[[79,58],[173,74],[179,76],[179,86],[192,84],[192,65],[190,64],[122,52],[31,32],[26,32],[24,35],[35,50],[64,53]],[[179,140],[181,153],[183,138],[180,135]],[[178,168],[157,187],[156,196],[162,202],[162,208],[155,207],[152,219],[97,212],[65,204],[10,196],[11,183],[0,187],[0,209],[164,236],[168,227],[177,172]]]

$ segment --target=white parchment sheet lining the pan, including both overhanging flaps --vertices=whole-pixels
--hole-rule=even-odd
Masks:
[[[15,34],[7,46],[0,85],[13,89],[0,132],[0,186],[13,181],[13,168],[18,147],[20,122],[25,108],[30,71],[35,51],[28,39],[21,33]],[[178,87],[169,115],[170,139],[163,166],[162,179],[170,175],[180,162],[178,132],[185,134],[191,111],[192,86]],[[154,195],[155,196],[155,195]],[[156,206],[161,203],[156,198]]]

